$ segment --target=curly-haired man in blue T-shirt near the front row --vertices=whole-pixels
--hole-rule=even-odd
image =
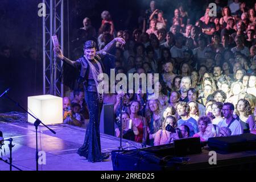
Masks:
[[[176,105],[177,114],[181,117],[179,121],[177,121],[178,126],[187,125],[189,127],[190,135],[189,137],[193,136],[195,133],[198,133],[198,127],[196,119],[193,119],[188,115],[189,113],[189,106],[186,102],[178,102]]]

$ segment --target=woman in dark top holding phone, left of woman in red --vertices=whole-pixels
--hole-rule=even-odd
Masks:
[[[131,122],[131,123],[130,123]],[[135,135],[138,135],[138,129],[134,123],[130,120],[128,113],[122,113],[122,133],[123,138],[134,141]],[[115,129],[115,136],[120,137],[119,128]]]

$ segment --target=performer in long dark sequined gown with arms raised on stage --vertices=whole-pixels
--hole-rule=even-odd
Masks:
[[[84,44],[84,56],[76,61],[69,60],[63,55],[59,48],[55,48],[57,57],[69,65],[80,70],[80,77],[84,78],[85,101],[89,109],[89,124],[86,129],[84,144],[79,148],[77,154],[84,156],[89,162],[101,162],[109,158],[109,154],[101,153],[100,142],[100,114],[102,109],[103,93],[97,92],[100,81],[97,76],[104,71],[101,57],[103,52],[109,52],[115,43],[125,44],[122,38],[115,38],[101,51],[96,52],[96,43],[88,40]]]

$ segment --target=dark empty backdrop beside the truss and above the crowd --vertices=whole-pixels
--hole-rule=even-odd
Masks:
[[[39,0],[0,0],[0,47],[11,48],[10,59],[0,59],[0,78],[4,80],[1,82],[0,92],[10,87],[10,96],[25,108],[27,96],[43,93],[42,18],[38,16],[38,4],[41,2]],[[164,17],[168,22],[171,22],[174,10],[179,3],[183,3],[191,22],[195,23],[196,19],[203,16],[209,2],[213,1],[191,0],[190,5],[189,0],[156,0],[155,2],[157,9],[164,11]],[[254,3],[254,1],[248,2]],[[101,25],[101,13],[108,10],[112,15],[115,30],[132,31],[138,27],[138,17],[149,8],[150,0],[65,0],[64,54],[72,56],[72,48],[68,49],[70,46],[68,43],[73,38],[73,32],[83,26],[82,20],[85,17],[91,19],[92,26],[98,31]],[[169,27],[170,24],[167,29]],[[35,49],[35,60],[28,56],[30,48]],[[10,101],[2,99],[0,103],[0,111],[17,110]]]

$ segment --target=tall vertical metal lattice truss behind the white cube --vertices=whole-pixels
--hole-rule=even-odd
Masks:
[[[43,94],[63,97],[63,84],[59,80],[62,61],[53,52],[52,35],[57,35],[60,48],[64,47],[64,0],[43,0],[46,16],[43,16]]]

